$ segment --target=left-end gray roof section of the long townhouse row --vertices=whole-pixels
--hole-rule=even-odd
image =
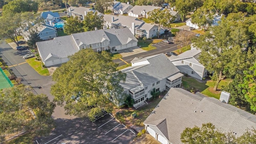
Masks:
[[[79,50],[71,35],[37,42],[36,45],[40,51],[42,61],[46,60],[49,54],[58,56],[59,58],[66,58]]]

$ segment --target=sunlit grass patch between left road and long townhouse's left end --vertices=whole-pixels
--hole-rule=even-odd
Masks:
[[[38,74],[42,75],[42,76],[49,76],[50,73],[48,71],[47,68],[42,68],[41,64],[42,62],[37,61],[36,58],[29,58],[26,59],[26,62],[28,62],[28,64],[34,68],[34,70],[36,70],[36,72],[38,72]]]

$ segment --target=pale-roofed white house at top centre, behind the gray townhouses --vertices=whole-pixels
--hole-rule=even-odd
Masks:
[[[128,16],[136,18],[148,18],[148,12],[151,12],[154,9],[164,10],[162,7],[158,6],[134,6],[129,12]]]

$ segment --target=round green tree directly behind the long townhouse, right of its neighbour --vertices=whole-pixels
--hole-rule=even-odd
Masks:
[[[88,12],[87,15],[84,16],[84,28],[86,31],[94,30],[95,28],[102,29],[103,22],[103,16],[98,16],[97,12]]]

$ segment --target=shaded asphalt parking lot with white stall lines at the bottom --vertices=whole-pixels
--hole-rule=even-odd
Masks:
[[[35,144],[128,144],[136,137],[136,133],[120,124],[110,114],[104,115],[95,122],[87,119],[76,118],[72,122],[58,122],[58,130],[54,130],[50,136],[37,138]]]

